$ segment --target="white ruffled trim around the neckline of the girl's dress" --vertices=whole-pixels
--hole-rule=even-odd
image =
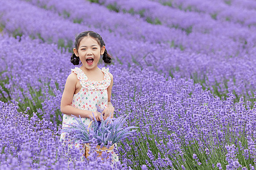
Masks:
[[[71,69],[71,71],[72,73],[77,74],[77,78],[80,80],[81,86],[88,90],[105,90],[109,87],[111,82],[109,68],[102,67],[101,71],[104,73],[104,79],[100,82],[88,80],[84,71],[79,67],[75,67],[75,69]]]

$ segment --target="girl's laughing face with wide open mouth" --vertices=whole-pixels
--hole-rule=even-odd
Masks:
[[[76,56],[79,56],[82,66],[86,69],[93,69],[98,66],[100,55],[104,54],[105,46],[100,46],[92,37],[83,37],[78,48],[73,49]]]

